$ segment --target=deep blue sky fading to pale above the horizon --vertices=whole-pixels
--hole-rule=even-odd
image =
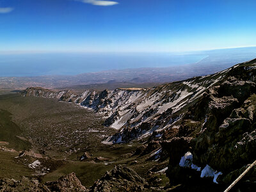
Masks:
[[[255,7],[255,0],[0,0],[0,51],[173,52],[254,46]]]

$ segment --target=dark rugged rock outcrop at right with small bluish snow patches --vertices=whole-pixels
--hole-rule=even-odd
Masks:
[[[207,175],[227,186],[255,161],[255,74],[256,60],[230,68],[221,81],[189,106],[179,124],[165,132],[169,140],[161,145],[170,154],[166,171],[170,182],[196,183]],[[186,158],[187,163],[182,164]],[[250,191],[255,176],[254,171],[248,173],[236,188]]]

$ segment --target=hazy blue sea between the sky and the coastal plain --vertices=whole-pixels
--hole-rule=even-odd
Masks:
[[[170,53],[8,53],[0,54],[0,76],[71,76],[125,68],[172,67],[196,63],[205,57]]]

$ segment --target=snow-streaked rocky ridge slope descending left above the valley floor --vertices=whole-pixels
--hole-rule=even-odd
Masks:
[[[120,134],[108,138],[108,141],[120,143],[170,127],[173,122],[180,119],[186,106],[191,105],[202,96],[205,90],[221,81],[231,69],[210,76],[193,77],[186,81],[147,89],[118,88],[102,92],[86,90],[80,95],[74,95],[70,91],[54,93],[42,88],[27,88],[22,95],[55,97],[68,102],[76,102],[98,113],[106,113],[108,118],[105,125],[122,130]],[[161,118],[167,117],[172,120],[159,124]]]

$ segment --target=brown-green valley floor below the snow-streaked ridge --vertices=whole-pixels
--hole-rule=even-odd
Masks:
[[[142,177],[148,170],[157,172],[168,164],[168,160],[146,161],[149,154],[132,155],[141,142],[102,144],[116,130],[102,125],[104,117],[76,104],[12,94],[0,95],[0,109],[0,178],[26,176],[45,183],[75,172],[89,187],[116,164],[125,164]],[[80,161],[84,152],[92,156]],[[152,186],[163,187],[168,182],[165,174],[154,177],[159,179],[150,181]]]

